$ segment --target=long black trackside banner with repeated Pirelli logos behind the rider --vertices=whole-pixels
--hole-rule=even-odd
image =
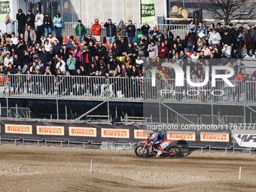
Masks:
[[[0,121],[0,136],[29,139],[72,139],[98,142],[139,142],[152,130],[143,126],[112,126],[77,123],[45,123]],[[229,130],[162,131],[165,139],[187,142],[188,145],[230,147]]]

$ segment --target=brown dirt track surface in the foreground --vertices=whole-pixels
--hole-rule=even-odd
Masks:
[[[133,151],[0,145],[1,192],[255,191],[255,171],[255,154],[193,151],[140,159]]]

